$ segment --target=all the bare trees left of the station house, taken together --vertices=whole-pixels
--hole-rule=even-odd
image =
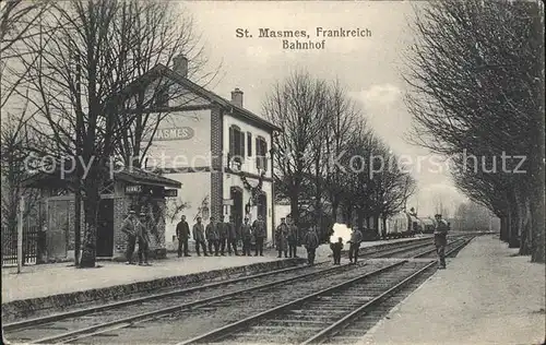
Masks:
[[[74,172],[67,187],[75,193],[76,210],[84,205],[81,260],[75,213],[75,262],[94,266],[99,195],[109,180],[110,158],[140,167],[168,115],[165,102],[191,102],[155,67],[185,56],[194,81],[206,84],[215,72],[204,71],[200,36],[174,2],[11,0],[0,17],[2,112],[11,119],[10,126],[2,123],[2,178],[9,185],[2,209],[16,210],[27,176],[28,167],[13,159],[21,163],[33,154],[52,157],[57,167],[68,162],[66,168]],[[10,197],[5,203],[4,195]],[[4,219],[13,227],[14,217]]]

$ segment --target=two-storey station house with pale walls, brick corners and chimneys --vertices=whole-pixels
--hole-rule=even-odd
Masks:
[[[167,219],[167,237],[174,238],[181,214],[190,227],[198,216],[205,224],[212,216],[226,221],[233,216],[240,225],[245,216],[252,223],[261,215],[271,241],[275,227],[272,142],[281,129],[245,109],[241,90],[235,88],[230,99],[223,98],[188,78],[183,56],[174,60],[173,68],[158,64],[136,81],[154,90],[157,83],[168,83],[170,93],[158,97],[164,100],[157,112],[164,118],[145,159],[146,168],[181,183],[178,199],[187,206],[176,219]]]

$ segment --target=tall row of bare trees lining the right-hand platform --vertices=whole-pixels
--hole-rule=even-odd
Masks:
[[[532,261],[544,245],[544,12],[539,1],[442,0],[416,11],[407,56],[414,139]]]

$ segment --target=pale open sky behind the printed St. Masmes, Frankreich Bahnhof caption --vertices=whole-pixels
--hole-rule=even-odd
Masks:
[[[408,26],[417,1],[190,1],[180,5],[192,15],[211,67],[222,64],[218,78],[207,87],[225,98],[235,87],[244,91],[245,108],[261,115],[271,87],[293,70],[305,69],[325,80],[337,79],[365,110],[368,123],[394,153],[416,162],[430,159],[426,148],[406,141],[412,117],[404,105],[406,86],[401,76],[403,57],[413,43]],[[370,37],[316,37],[323,29],[369,29]],[[252,37],[236,37],[248,29]],[[283,38],[259,38],[259,28],[306,31],[301,41],[321,43],[323,49],[283,49]],[[290,41],[298,38],[289,38]],[[456,191],[449,172],[431,170],[423,160],[413,165],[418,191],[408,207],[420,215],[436,212],[441,202],[454,212],[466,199]],[[439,160],[438,160],[439,162]]]

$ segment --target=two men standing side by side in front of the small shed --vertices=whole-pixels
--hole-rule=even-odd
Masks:
[[[145,213],[136,217],[136,212],[131,210],[123,221],[121,231],[127,235],[127,264],[135,264],[133,261],[134,247],[139,243],[139,265],[150,266],[147,261],[150,250],[150,233],[153,224]]]

